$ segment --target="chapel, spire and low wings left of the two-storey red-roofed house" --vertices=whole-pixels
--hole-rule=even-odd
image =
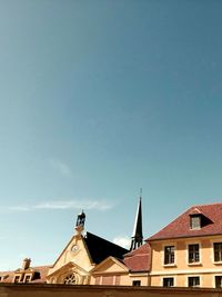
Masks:
[[[0,273],[1,283],[69,285],[149,285],[150,249],[143,245],[142,202],[139,199],[131,249],[124,249],[91,232],[84,232],[85,214],[77,219],[74,234],[54,264],[31,267],[24,259],[16,271]]]

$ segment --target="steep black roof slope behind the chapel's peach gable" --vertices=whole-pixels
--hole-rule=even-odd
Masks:
[[[90,232],[87,232],[83,239],[94,264],[103,261],[109,256],[122,259],[123,255],[129,253],[128,249]]]

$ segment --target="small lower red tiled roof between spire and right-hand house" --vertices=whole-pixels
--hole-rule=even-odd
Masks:
[[[150,245],[144,244],[138,249],[124,255],[124,265],[131,273],[149,271],[150,270]]]

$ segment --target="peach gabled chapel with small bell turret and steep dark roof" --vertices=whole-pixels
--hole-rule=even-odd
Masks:
[[[87,232],[83,235],[84,220],[85,215],[82,211],[78,216],[73,237],[49,269],[47,283],[72,285],[97,283],[98,279],[93,271],[101,263],[107,258],[122,260],[123,255],[129,251],[93,234]],[[110,281],[110,278],[102,278],[102,284]],[[117,277],[112,281],[113,285],[119,284]]]

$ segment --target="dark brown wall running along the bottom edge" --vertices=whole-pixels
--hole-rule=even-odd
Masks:
[[[220,289],[0,284],[0,297],[222,297]]]

